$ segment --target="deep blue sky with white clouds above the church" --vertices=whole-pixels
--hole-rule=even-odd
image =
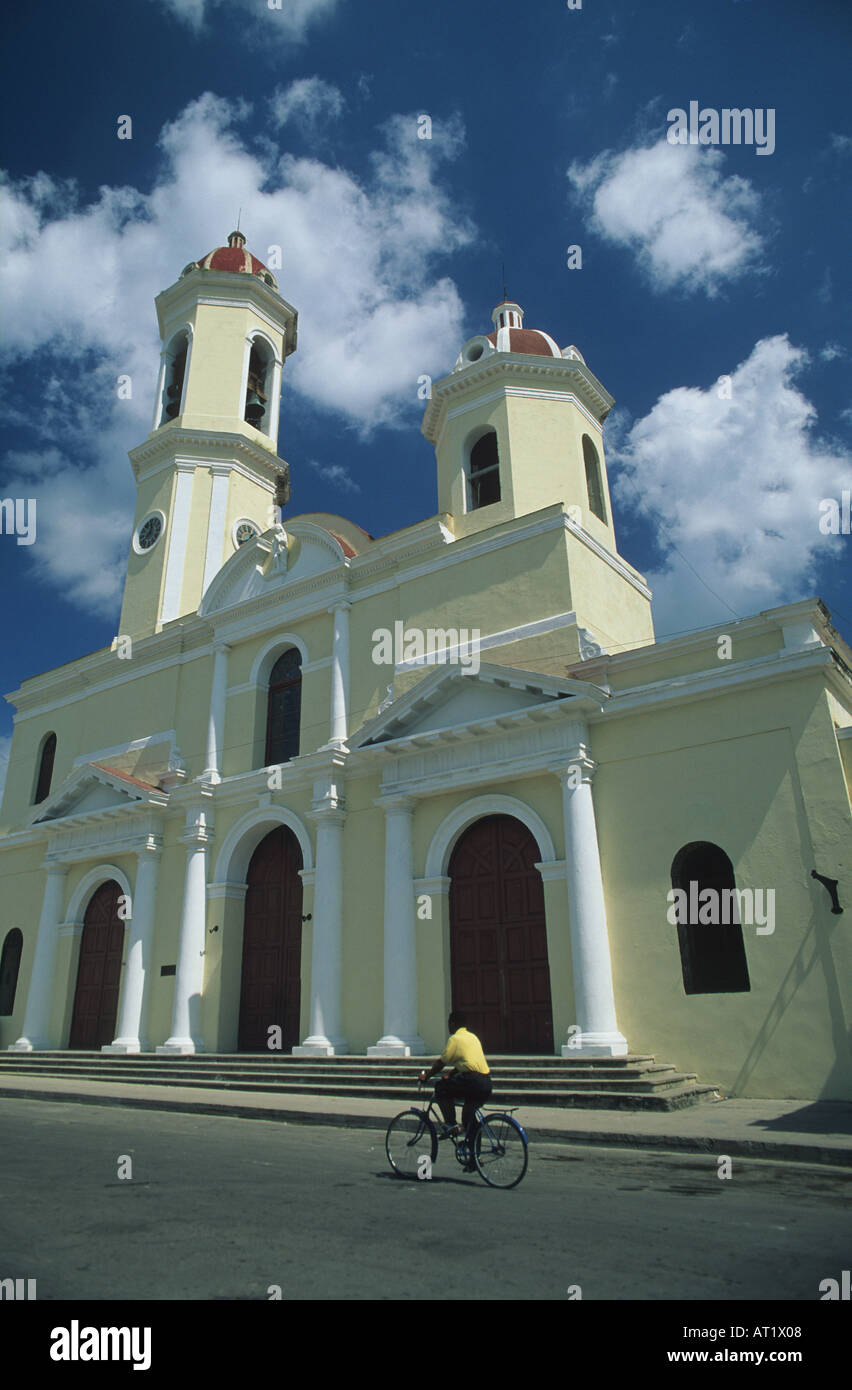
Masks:
[[[1,692],[115,635],[153,300],[240,207],[300,316],[289,514],[435,513],[417,379],[491,329],[505,263],[616,398],[657,634],[819,594],[852,641],[852,537],[819,525],[852,488],[845,0],[33,0],[4,29],[0,499],[38,534],[0,535]],[[670,143],[691,101],[771,110],[773,152]],[[4,705],[0,781],[10,734]]]

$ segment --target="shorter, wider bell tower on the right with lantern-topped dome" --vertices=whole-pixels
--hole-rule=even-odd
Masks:
[[[613,527],[603,421],[614,400],[577,348],[524,328],[514,300],[491,320],[492,332],[470,338],[432,384],[423,417],[438,510],[452,516],[456,541],[534,516],[562,528],[564,585],[552,603],[610,651],[652,642],[650,591],[618,555]]]

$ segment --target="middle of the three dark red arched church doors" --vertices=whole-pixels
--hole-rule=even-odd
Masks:
[[[265,1052],[274,1026],[282,1048],[299,1041],[302,999],[302,851],[279,826],[252,855],[239,1001],[240,1052]]]

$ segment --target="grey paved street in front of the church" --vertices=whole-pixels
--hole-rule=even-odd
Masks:
[[[0,1277],[39,1300],[819,1298],[852,1173],[538,1144],[493,1191],[368,1130],[0,1101]],[[120,1179],[120,1155],[132,1179]]]

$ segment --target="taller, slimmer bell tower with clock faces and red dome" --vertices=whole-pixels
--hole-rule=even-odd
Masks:
[[[278,410],[297,314],[272,272],[231,232],[156,306],[151,432],[129,455],[138,499],[120,626],[129,637],[197,612],[225,560],[289,499]]]

